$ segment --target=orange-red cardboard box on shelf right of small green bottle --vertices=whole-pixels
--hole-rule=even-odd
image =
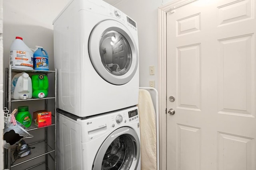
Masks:
[[[47,110],[34,111],[33,119],[38,127],[49,126],[52,124],[52,112]]]

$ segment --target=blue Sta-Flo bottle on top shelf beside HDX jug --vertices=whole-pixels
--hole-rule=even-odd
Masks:
[[[34,52],[34,70],[49,70],[48,54],[43,47]]]

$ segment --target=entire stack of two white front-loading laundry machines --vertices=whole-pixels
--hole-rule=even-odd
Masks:
[[[140,170],[138,33],[102,0],[54,20],[59,170]]]

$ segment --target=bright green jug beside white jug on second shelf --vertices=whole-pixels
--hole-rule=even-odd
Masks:
[[[46,98],[48,96],[48,77],[42,74],[31,76],[33,98]]]

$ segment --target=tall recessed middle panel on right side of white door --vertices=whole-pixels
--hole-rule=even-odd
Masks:
[[[251,34],[218,40],[219,112],[254,115],[251,98],[253,39],[254,35]]]

